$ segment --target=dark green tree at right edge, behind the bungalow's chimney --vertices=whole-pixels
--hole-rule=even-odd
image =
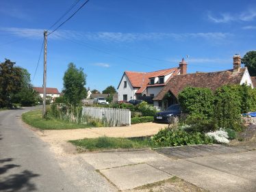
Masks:
[[[256,76],[256,51],[248,51],[242,58],[242,63],[248,68],[251,76]]]

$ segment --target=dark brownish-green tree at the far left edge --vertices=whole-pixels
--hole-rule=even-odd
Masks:
[[[22,70],[14,65],[10,59],[0,64],[0,107],[12,107],[11,95],[21,90]]]

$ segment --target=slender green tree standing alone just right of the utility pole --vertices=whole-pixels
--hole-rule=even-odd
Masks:
[[[64,99],[66,102],[77,105],[86,96],[86,74],[83,68],[76,68],[75,64],[68,64],[63,77]]]

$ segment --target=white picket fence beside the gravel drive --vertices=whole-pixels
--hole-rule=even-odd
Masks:
[[[99,120],[106,120],[110,126],[131,125],[131,111],[129,109],[83,107],[82,115],[88,115]]]

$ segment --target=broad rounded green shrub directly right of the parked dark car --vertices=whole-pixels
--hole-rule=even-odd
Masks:
[[[211,118],[214,113],[214,94],[209,88],[186,87],[178,98],[184,113],[204,119]]]

